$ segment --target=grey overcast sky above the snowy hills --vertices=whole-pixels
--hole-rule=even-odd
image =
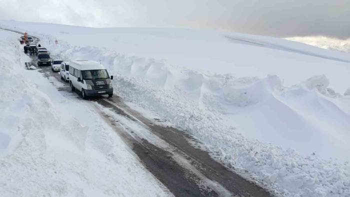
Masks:
[[[350,0],[0,0],[0,19],[350,37]]]

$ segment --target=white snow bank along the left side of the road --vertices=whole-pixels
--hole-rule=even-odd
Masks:
[[[19,34],[0,30],[1,196],[168,196],[91,104],[24,68]]]

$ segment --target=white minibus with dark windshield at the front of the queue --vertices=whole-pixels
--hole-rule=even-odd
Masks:
[[[86,98],[91,95],[113,95],[113,76],[97,61],[75,60],[69,62],[69,85],[72,91],[81,91]]]

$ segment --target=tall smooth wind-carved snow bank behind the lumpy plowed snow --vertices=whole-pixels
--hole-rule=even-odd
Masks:
[[[53,51],[65,59],[101,60],[113,74],[139,77],[156,87],[178,90],[194,105],[221,113],[226,124],[237,127],[250,139],[293,147],[303,155],[316,153],[322,158],[350,160],[346,153],[350,150],[350,100],[328,88],[325,75],[284,87],[275,75],[262,79],[208,75],[162,60],[128,57],[97,47],[66,46]]]

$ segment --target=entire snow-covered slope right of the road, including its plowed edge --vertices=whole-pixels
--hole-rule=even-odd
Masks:
[[[115,93],[277,194],[350,195],[348,53],[240,33],[1,23],[62,59],[101,61]]]

